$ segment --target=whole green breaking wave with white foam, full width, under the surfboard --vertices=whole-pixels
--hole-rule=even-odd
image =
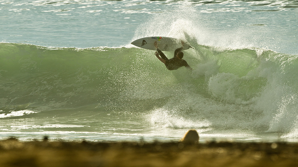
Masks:
[[[1,115],[102,108],[159,127],[298,137],[297,55],[191,45],[184,59],[194,70],[169,71],[154,51],[134,47],[0,43]]]

